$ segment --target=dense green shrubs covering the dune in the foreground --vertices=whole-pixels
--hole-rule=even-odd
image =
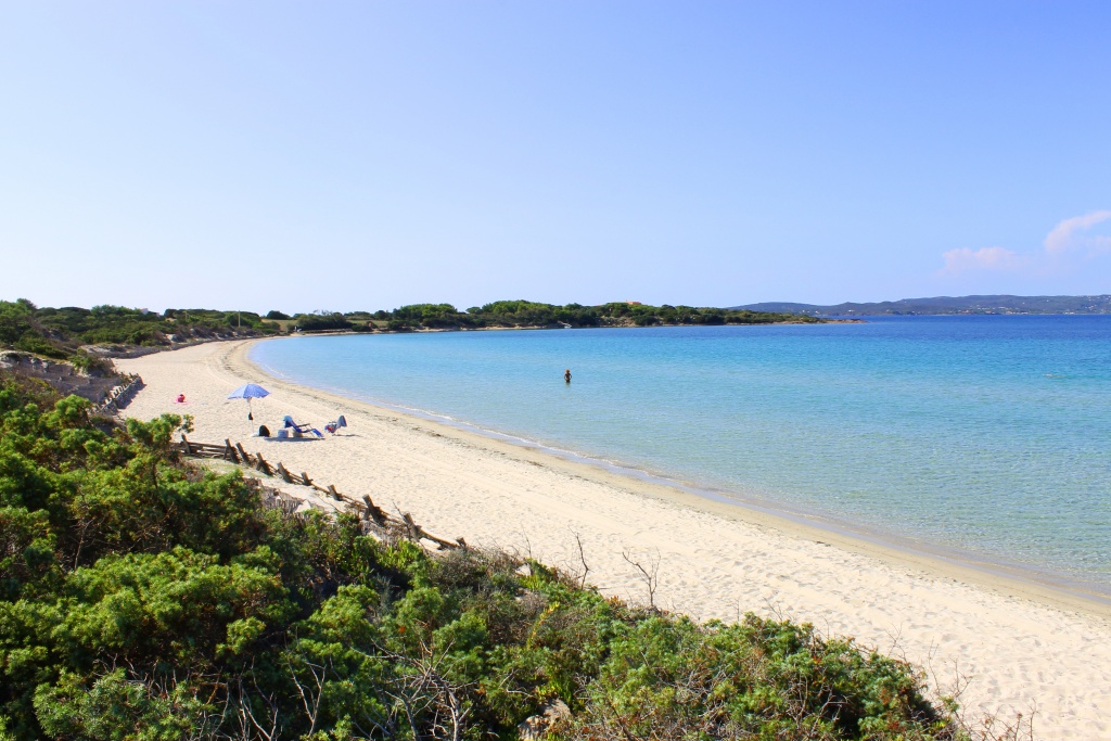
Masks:
[[[551,738],[953,738],[849,640],[287,515],[177,461],[181,419],[98,428],[27,383],[0,378],[0,738],[510,739],[557,700]]]

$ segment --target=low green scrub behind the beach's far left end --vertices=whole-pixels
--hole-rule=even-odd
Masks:
[[[99,306],[40,309],[27,299],[0,301],[0,347],[81,362],[83,344],[158,347],[232,333],[274,332],[257,313],[208,309],[143,309]]]

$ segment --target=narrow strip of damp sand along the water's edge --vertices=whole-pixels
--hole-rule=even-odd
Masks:
[[[492,331],[500,328],[483,328]],[[529,328],[511,328],[529,329]],[[426,330],[452,331],[452,330]],[[516,451],[522,460],[551,465],[556,462],[582,478],[593,478],[608,485],[643,487],[638,493],[672,501],[683,507],[699,509],[738,522],[770,527],[812,542],[829,542],[838,548],[880,559],[899,567],[920,569],[940,578],[957,579],[994,590],[1008,597],[1029,599],[1043,604],[1080,610],[1093,617],[1111,620],[1111,590],[1088,588],[1084,582],[1068,582],[1059,574],[1000,561],[992,561],[973,551],[949,548],[927,541],[900,541],[895,533],[870,530],[852,522],[838,520],[819,512],[792,510],[778,502],[749,497],[741,492],[700,488],[665,474],[652,473],[620,462],[592,458],[571,450],[550,448],[541,442],[518,438],[498,430],[480,428],[467,421],[444,418],[436,412],[374,402],[349,397],[337,391],[297,383],[274,369],[267,369],[250,359],[251,347],[259,342],[284,338],[256,338],[244,340],[227,357],[226,366],[237,373],[256,373],[270,379],[270,383],[284,384],[300,393],[309,393],[333,404],[361,404],[378,414],[392,414],[409,419],[410,423],[432,427],[444,437],[459,435],[478,444],[497,443]],[[477,440],[476,440],[477,439]],[[534,457],[526,455],[526,452]]]

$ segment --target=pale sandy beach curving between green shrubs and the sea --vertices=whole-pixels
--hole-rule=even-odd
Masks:
[[[793,521],[713,502],[543,452],[267,378],[248,343],[211,343],[118,361],[147,388],[127,414],[194,417],[191,439],[242,442],[271,462],[471,544],[529,552],[581,570],[575,533],[603,592],[644,602],[648,589],[622,553],[659,563],[655,603],[695,618],[752,611],[809,621],[821,631],[927,667],[931,688],[968,681],[970,718],[1031,717],[1037,738],[1111,739],[1111,610],[1037,585],[910,555]],[[247,403],[246,382],[270,391]],[[186,405],[173,403],[184,393]],[[320,441],[251,438],[283,414],[326,422]]]

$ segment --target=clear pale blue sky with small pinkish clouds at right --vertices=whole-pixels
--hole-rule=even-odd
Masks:
[[[0,4],[0,298],[1111,292],[1111,2]]]

